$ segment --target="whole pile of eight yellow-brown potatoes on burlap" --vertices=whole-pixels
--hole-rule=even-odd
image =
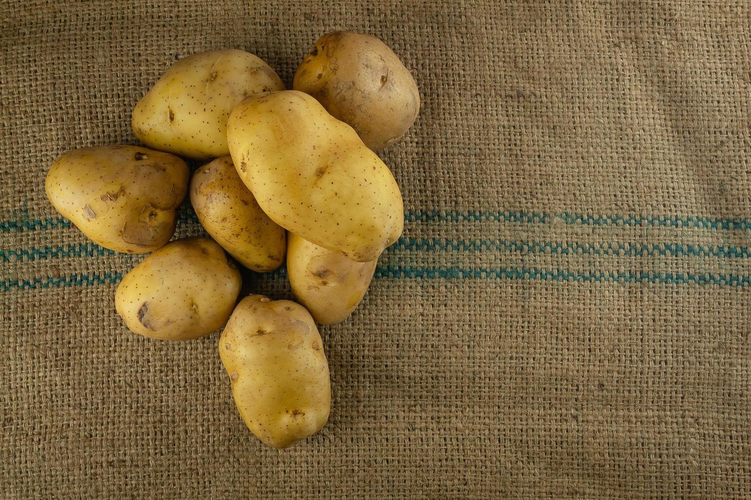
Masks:
[[[349,316],[402,233],[399,187],[372,150],[400,139],[420,108],[409,70],[366,34],[321,37],[293,86],[248,52],[184,58],[133,110],[148,148],[70,151],[45,184],[53,206],[95,243],[153,252],[115,294],[131,331],[189,340],[225,327],[219,356],[237,409],[275,448],[327,421],[329,370],[315,324]],[[176,155],[210,161],[191,176]],[[213,239],[167,243],[187,193]],[[302,305],[261,295],[237,304],[235,260],[267,272],[285,255]]]

